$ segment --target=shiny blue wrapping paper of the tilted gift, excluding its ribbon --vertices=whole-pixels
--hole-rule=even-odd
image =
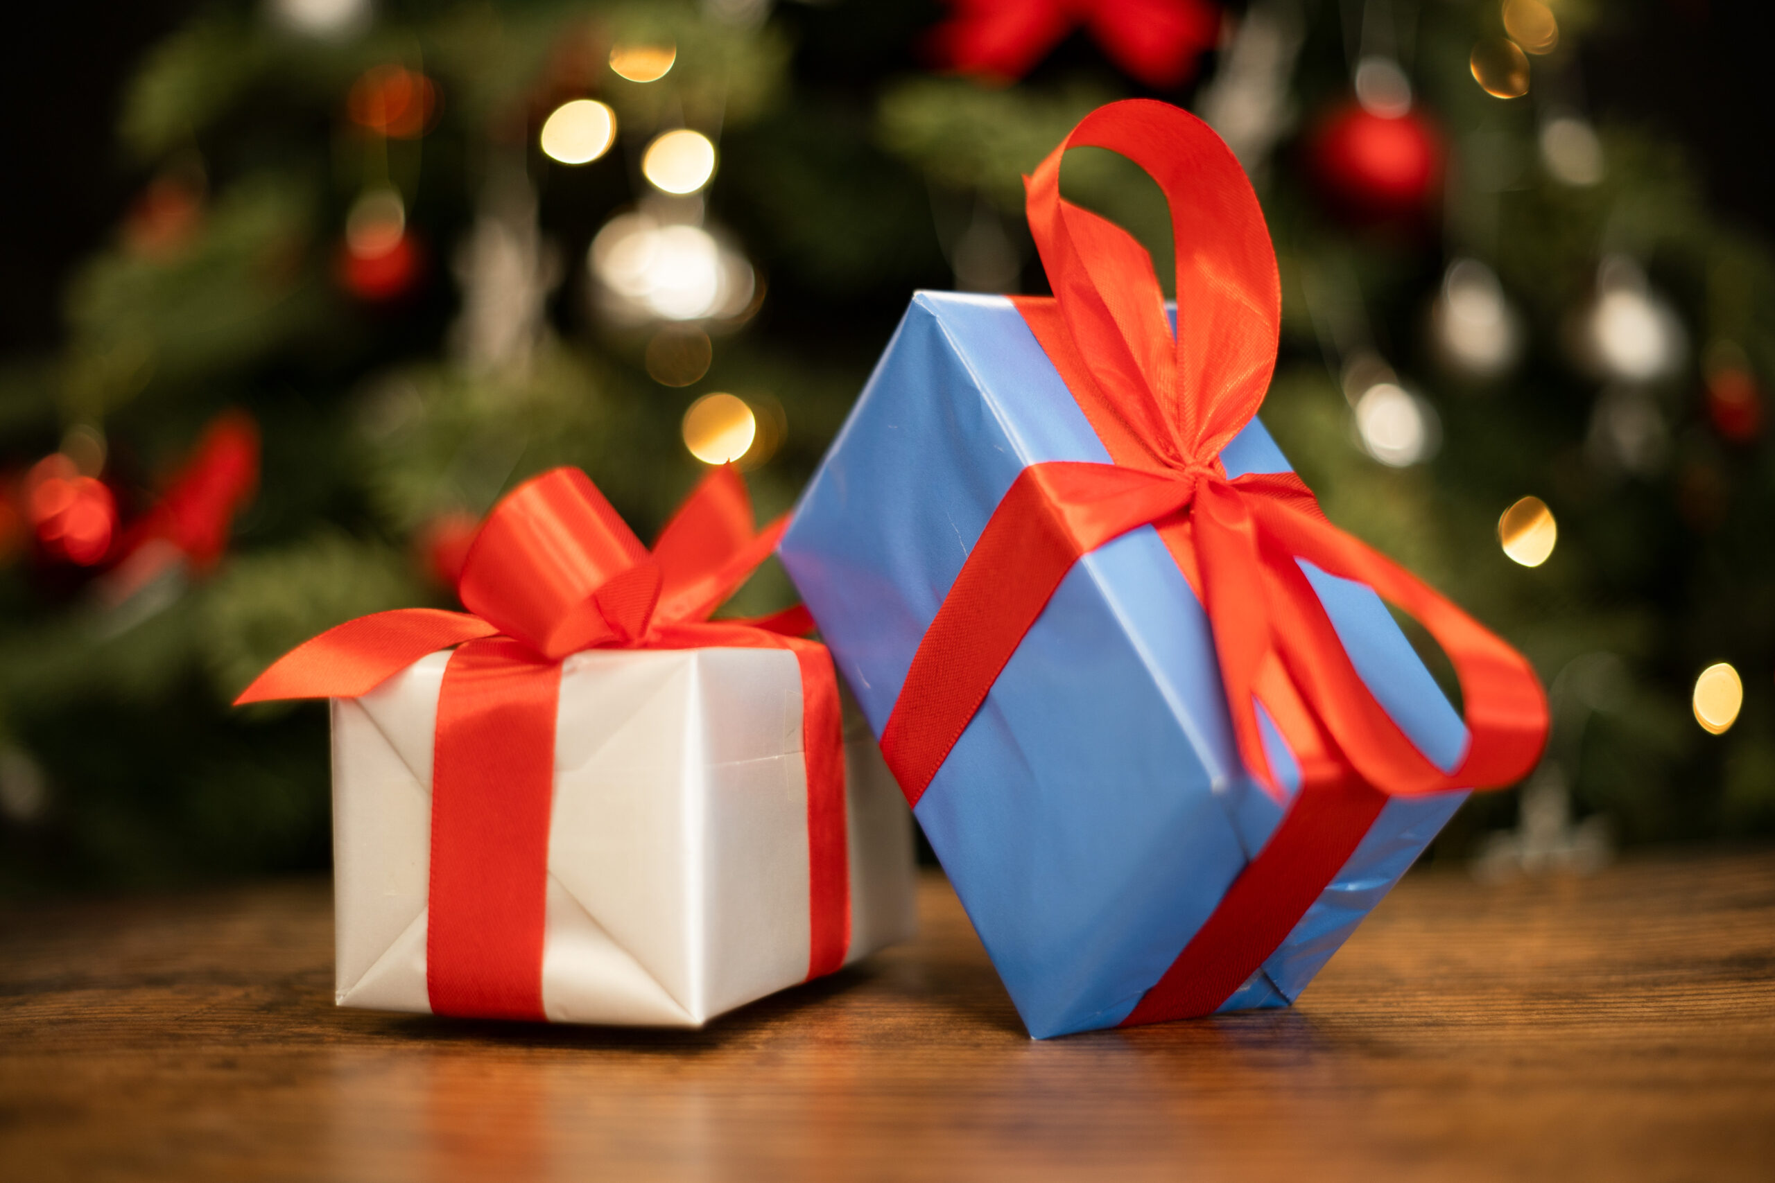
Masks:
[[[918,644],[1017,474],[1109,463],[1005,296],[919,293],[779,555],[880,734]],[[1258,420],[1228,477],[1287,472]],[[1445,772],[1466,727],[1370,589],[1303,562],[1361,679]],[[1299,770],[1262,718],[1287,793]],[[1464,793],[1392,798],[1221,1011],[1290,1004]],[[1120,1023],[1282,819],[1239,763],[1207,615],[1157,530],[1085,555],[914,816],[1030,1034]]]

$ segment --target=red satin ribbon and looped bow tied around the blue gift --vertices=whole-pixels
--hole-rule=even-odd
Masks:
[[[1060,199],[1060,160],[1081,145],[1141,165],[1170,202],[1175,337],[1140,243]],[[1519,653],[1326,521],[1299,477],[1227,477],[1219,452],[1257,413],[1276,364],[1282,286],[1257,195],[1207,124],[1164,103],[1111,103],[1024,183],[1054,298],[1017,309],[1115,463],[1040,463],[1017,477],[919,642],[882,754],[916,805],[1072,564],[1157,527],[1207,608],[1244,766],[1282,796],[1262,701],[1301,768],[1269,842],[1124,1025],[1207,1015],[1287,938],[1388,796],[1526,775],[1546,740],[1546,695]],[[1441,644],[1466,706],[1454,772],[1376,702],[1303,560],[1367,584]]]

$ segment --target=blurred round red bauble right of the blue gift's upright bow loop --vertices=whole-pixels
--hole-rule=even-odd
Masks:
[[[1422,216],[1441,186],[1443,138],[1416,112],[1386,117],[1349,103],[1319,124],[1306,151],[1326,197],[1356,222]]]

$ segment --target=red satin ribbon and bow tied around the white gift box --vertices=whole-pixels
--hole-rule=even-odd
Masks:
[[[438,697],[431,775],[426,988],[438,1015],[543,1018],[541,961],[561,660],[580,649],[788,649],[801,667],[808,770],[808,977],[850,947],[838,678],[804,608],[710,621],[770,555],[786,521],[753,529],[733,468],[717,468],[641,544],[577,468],[506,497],[476,536],[470,614],[401,608],[291,649],[236,699],[353,699],[456,646]]]

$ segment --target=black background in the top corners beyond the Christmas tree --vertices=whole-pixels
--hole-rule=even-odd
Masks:
[[[110,232],[142,183],[115,144],[122,87],[140,55],[201,7],[201,0],[130,0],[9,12],[11,35],[0,39],[7,177],[0,188],[0,355],[55,348],[69,268]],[[795,7],[788,16],[813,16]],[[1585,44],[1583,74],[1598,119],[1629,119],[1677,137],[1693,153],[1713,206],[1775,236],[1766,12],[1757,0],[1610,4],[1605,27]]]

